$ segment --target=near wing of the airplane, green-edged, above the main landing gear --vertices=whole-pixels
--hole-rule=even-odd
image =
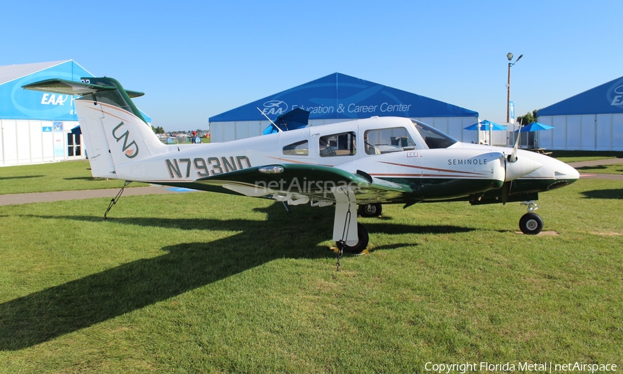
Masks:
[[[397,184],[356,173],[320,165],[287,163],[257,166],[197,179],[195,183],[221,186],[251,197],[269,197],[288,204],[336,202],[336,190],[349,190],[358,204],[387,202],[413,193],[406,184]]]

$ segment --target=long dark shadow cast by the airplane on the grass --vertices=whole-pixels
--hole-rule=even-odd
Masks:
[[[281,204],[261,208],[268,220],[187,218],[112,218],[65,216],[103,225],[133,224],[177,229],[205,229],[206,242],[163,247],[163,256],[125,263],[46,290],[0,304],[0,350],[19,350],[41,344],[127,312],[169,299],[278,258],[332,258],[327,247],[314,245],[330,238],[332,209],[304,215],[287,214]],[[313,212],[313,213],[310,213]],[[30,216],[33,217],[33,216]],[[57,220],[58,216],[36,217]],[[313,222],[310,224],[310,222]],[[453,233],[473,229],[457,226],[410,226],[366,220],[372,233]],[[105,228],[102,228],[105,229]],[[237,231],[228,238],[209,240],[209,231]],[[326,235],[323,235],[326,233]],[[157,241],[157,238],[154,238]],[[260,244],[261,242],[261,244]],[[120,243],[123,245],[123,243]],[[376,249],[415,246],[390,244]],[[327,267],[327,271],[334,268]]]

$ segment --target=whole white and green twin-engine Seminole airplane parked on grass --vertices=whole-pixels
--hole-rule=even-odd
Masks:
[[[357,223],[381,204],[523,202],[519,226],[543,229],[540,192],[579,178],[561,161],[514,148],[461,143],[419,121],[372,117],[226,143],[164,145],[132,97],[112,78],[44,80],[25,89],[75,100],[93,177],[143,181],[264,197],[289,205],[335,205],[333,240],[359,253],[368,232]],[[276,126],[276,125],[275,125]],[[277,126],[276,126],[277,127]]]

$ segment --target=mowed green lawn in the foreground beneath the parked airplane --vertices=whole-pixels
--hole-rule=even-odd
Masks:
[[[85,183],[88,183],[85,181]],[[383,206],[372,253],[334,209],[180,193],[0,206],[0,373],[417,373],[623,365],[623,185],[525,207]],[[554,233],[552,233],[554,234]]]

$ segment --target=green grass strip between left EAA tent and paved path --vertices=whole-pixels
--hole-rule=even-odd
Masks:
[[[0,195],[123,187],[123,181],[118,179],[93,178],[90,168],[87,160],[5,166],[0,168]],[[129,185],[140,186],[147,184]]]

